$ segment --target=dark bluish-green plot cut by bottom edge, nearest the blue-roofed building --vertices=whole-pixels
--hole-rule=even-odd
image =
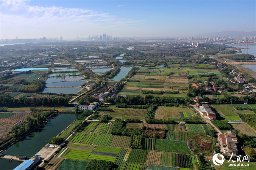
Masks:
[[[71,159],[65,159],[57,170],[67,170],[67,169],[85,169],[89,162],[86,161],[77,161]]]

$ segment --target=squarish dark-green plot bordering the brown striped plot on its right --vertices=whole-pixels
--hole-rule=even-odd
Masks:
[[[132,149],[127,159],[127,162],[145,163],[147,154],[147,150]]]

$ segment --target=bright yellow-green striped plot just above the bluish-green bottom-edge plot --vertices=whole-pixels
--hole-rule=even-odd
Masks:
[[[64,158],[68,159],[74,159],[74,160],[80,160],[80,161],[86,161],[89,157],[89,155],[92,153],[91,151],[87,150],[78,150],[78,149],[71,149],[69,152],[66,151],[67,154],[64,156]]]

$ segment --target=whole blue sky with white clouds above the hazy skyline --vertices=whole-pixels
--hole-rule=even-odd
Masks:
[[[1,0],[0,5],[0,39],[173,37],[256,30],[255,0]]]

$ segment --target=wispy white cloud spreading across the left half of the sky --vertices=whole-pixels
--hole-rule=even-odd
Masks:
[[[56,34],[88,36],[96,31],[112,31],[144,22],[118,18],[91,9],[31,6],[29,2],[30,0],[0,1],[1,38],[38,38]]]

